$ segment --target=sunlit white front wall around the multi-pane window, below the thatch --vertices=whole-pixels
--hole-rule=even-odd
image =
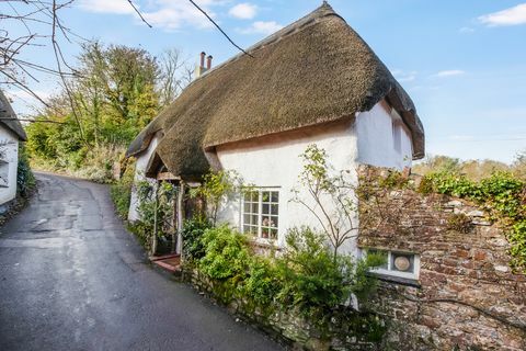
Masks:
[[[222,168],[236,170],[245,184],[279,188],[278,246],[284,246],[285,235],[289,228],[302,225],[320,227],[307,208],[291,202],[294,197],[291,191],[297,189],[299,196],[312,205],[312,197],[298,180],[304,169],[299,156],[310,144],[316,144],[327,151],[328,161],[335,170],[350,170],[348,177],[355,179],[356,135],[350,122],[220,146],[216,149]],[[240,199],[230,201],[219,214],[219,220],[229,222],[240,228]],[[342,247],[342,252],[354,253],[355,249],[355,240],[350,240]]]

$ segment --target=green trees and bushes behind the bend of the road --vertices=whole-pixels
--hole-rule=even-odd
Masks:
[[[141,48],[85,44],[79,73],[66,81],[68,91],[46,101],[25,127],[32,163],[112,181],[124,148],[190,82],[187,73],[181,77],[184,63],[178,52],[171,53],[159,63]]]

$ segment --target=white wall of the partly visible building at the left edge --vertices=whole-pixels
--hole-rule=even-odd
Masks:
[[[3,125],[0,125],[0,148],[2,149],[3,160],[8,167],[8,186],[0,186],[0,205],[13,200],[16,196],[16,170],[19,166],[19,138]]]

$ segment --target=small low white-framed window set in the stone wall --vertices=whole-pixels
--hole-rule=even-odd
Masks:
[[[371,272],[407,278],[412,280],[419,279],[420,273],[420,257],[411,252],[386,251],[368,249],[366,253],[379,253],[385,256],[386,263]]]

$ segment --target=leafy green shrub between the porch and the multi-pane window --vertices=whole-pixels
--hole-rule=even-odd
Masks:
[[[215,226],[217,215],[222,203],[230,199],[237,190],[242,188],[242,180],[235,171],[210,171],[204,179],[201,186],[192,189],[191,197],[202,196],[208,207],[208,217]]]

